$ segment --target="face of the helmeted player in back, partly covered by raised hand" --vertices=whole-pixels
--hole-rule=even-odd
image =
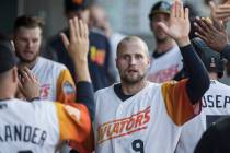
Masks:
[[[170,15],[165,13],[158,13],[152,16],[151,30],[154,33],[157,42],[164,42],[169,36],[163,32],[163,30],[158,25],[159,22],[163,22],[169,25]]]

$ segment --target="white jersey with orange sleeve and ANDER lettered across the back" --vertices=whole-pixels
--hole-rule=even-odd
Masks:
[[[0,101],[1,153],[54,153],[57,144],[71,140],[80,152],[90,150],[91,120],[85,106],[41,101]],[[85,143],[85,144],[84,144]]]

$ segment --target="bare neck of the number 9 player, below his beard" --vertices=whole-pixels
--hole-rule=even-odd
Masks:
[[[135,84],[126,83],[122,81],[122,89],[125,95],[135,95],[136,93],[141,91],[143,87],[146,87],[146,85],[147,85],[146,79]]]

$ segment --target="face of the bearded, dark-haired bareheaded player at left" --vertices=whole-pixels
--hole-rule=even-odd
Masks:
[[[16,56],[23,62],[33,62],[39,56],[42,30],[20,27],[14,36]]]

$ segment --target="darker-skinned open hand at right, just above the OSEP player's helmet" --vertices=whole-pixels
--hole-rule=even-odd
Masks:
[[[196,17],[194,24],[196,27],[195,35],[200,37],[214,50],[220,52],[228,45],[228,34],[221,22],[215,21],[212,23],[208,19]]]

